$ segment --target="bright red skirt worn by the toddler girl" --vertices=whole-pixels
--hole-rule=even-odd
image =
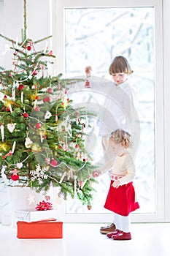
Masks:
[[[104,208],[109,211],[115,212],[122,216],[128,216],[131,211],[135,211],[139,208],[139,203],[135,202],[135,191],[133,182],[129,182],[123,186],[112,187],[114,181],[111,181],[107,200],[104,204]]]

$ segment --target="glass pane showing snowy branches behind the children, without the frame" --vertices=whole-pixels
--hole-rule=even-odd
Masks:
[[[140,121],[140,146],[136,154],[136,191],[138,213],[155,212],[155,120],[154,120],[154,8],[73,8],[65,10],[66,76],[85,75],[92,67],[93,80],[110,78],[109,64],[115,56],[123,55],[134,69],[131,82],[138,91],[137,111]],[[76,91],[74,101],[102,105],[102,94]],[[95,123],[95,120],[90,120]],[[97,136],[97,125],[93,127]],[[92,131],[89,131],[92,132]],[[93,131],[93,134],[95,133]],[[98,162],[101,141],[88,148]],[[66,213],[106,213],[104,200],[109,189],[109,176],[98,179],[97,193],[90,211],[73,200],[66,204]]]

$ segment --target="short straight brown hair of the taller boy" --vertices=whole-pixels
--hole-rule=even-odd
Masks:
[[[130,64],[128,63],[127,59],[125,59],[125,57],[123,56],[116,56],[109,66],[110,75],[118,73],[125,73],[128,75],[131,75],[131,73],[133,73]]]

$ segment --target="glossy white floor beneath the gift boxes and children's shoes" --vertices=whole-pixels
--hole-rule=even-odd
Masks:
[[[103,225],[103,224],[102,224]],[[169,256],[170,223],[131,224],[132,240],[101,235],[101,224],[63,224],[62,239],[18,239],[15,227],[0,226],[1,256]]]

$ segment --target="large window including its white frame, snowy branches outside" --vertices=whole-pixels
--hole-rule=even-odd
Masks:
[[[56,27],[58,35],[59,69],[67,77],[82,76],[87,65],[92,67],[91,83],[93,85],[110,80],[109,64],[117,55],[125,56],[134,69],[131,77],[133,86],[138,91],[139,101],[136,110],[140,123],[140,143],[136,151],[136,191],[140,209],[133,214],[134,220],[155,220],[163,217],[163,188],[158,169],[163,168],[163,126],[160,123],[163,116],[162,83],[162,35],[161,35],[161,1],[105,1],[105,6],[97,6],[95,1],[85,7],[77,1],[59,1],[57,5]],[[61,3],[62,2],[62,3]],[[99,5],[99,4],[98,4]],[[108,7],[107,7],[108,5]],[[159,12],[158,12],[159,10]],[[64,14],[64,15],[62,15]],[[62,31],[61,31],[62,29]],[[59,33],[60,32],[60,37]],[[63,36],[61,36],[63,35]],[[159,39],[158,39],[159,38]],[[157,64],[159,63],[159,65]],[[159,66],[159,67],[158,67]],[[159,69],[159,73],[156,72]],[[105,79],[105,80],[104,80]],[[84,91],[82,85],[77,85],[72,99],[76,102],[103,104],[101,91]],[[159,111],[158,111],[159,109]],[[161,110],[161,111],[160,111]],[[158,122],[159,120],[159,122]],[[96,124],[95,120],[93,124]],[[88,148],[93,155],[93,161],[98,162],[101,154],[101,142],[98,139],[97,124],[93,126],[91,140],[93,147]],[[96,138],[94,137],[96,135]],[[159,136],[158,136],[159,135]],[[159,154],[158,154],[159,152]],[[160,154],[161,152],[161,154]],[[76,219],[86,214],[86,218],[98,221],[110,218],[109,211],[103,208],[107,196],[109,179],[104,174],[96,186],[97,193],[90,211],[70,200],[64,208],[67,217]],[[88,217],[87,217],[88,216]],[[90,216],[90,217],[89,217]],[[96,219],[98,216],[98,219]],[[104,216],[104,217],[103,217]]]

